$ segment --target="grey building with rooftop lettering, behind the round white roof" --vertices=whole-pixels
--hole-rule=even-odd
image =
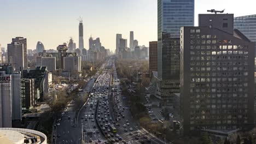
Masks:
[[[0,127],[12,127],[12,121],[21,120],[21,73],[13,73],[9,64],[0,69]]]

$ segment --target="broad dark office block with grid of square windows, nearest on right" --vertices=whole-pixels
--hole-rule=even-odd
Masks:
[[[199,15],[181,28],[181,119],[185,135],[253,127],[254,43],[233,14]]]

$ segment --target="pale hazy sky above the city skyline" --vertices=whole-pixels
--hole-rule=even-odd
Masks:
[[[255,0],[195,0],[197,14],[207,9],[225,9],[235,16],[256,14]],[[83,17],[84,46],[88,39],[100,37],[106,49],[115,49],[115,34],[128,39],[129,32],[139,45],[157,40],[157,0],[0,0],[0,44],[7,47],[11,38],[27,38],[27,48],[35,49],[37,41],[45,49],[56,49],[73,37],[78,47],[77,18]]]

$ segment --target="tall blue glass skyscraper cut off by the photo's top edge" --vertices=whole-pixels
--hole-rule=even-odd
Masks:
[[[179,92],[180,28],[194,26],[194,0],[158,0],[158,79],[161,105]]]

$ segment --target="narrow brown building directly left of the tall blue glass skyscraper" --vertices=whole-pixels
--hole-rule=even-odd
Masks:
[[[149,41],[149,74],[158,71],[158,41]]]

